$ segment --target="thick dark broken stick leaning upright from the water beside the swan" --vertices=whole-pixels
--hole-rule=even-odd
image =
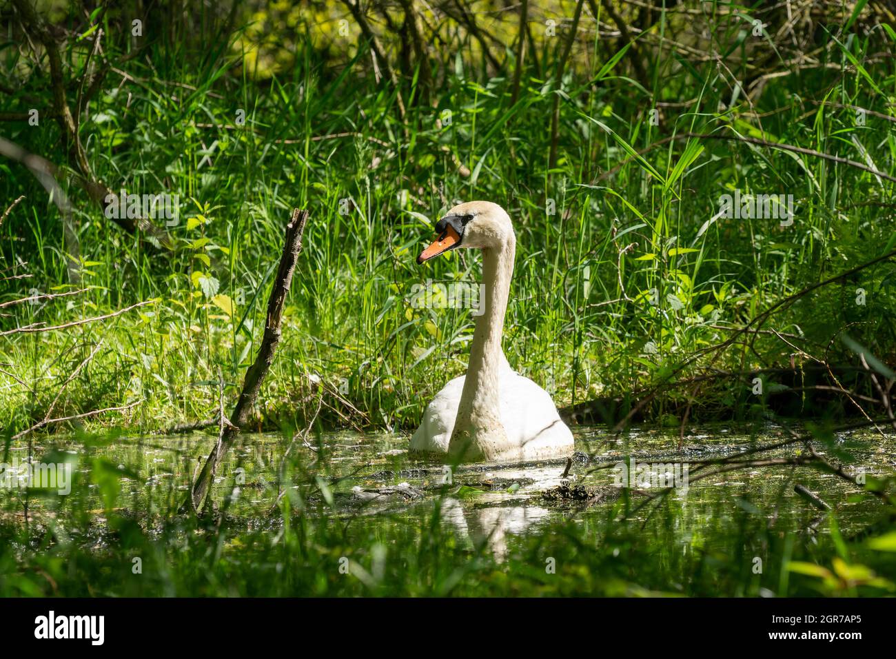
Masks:
[[[255,356],[252,366],[246,371],[243,391],[240,392],[237,405],[230,415],[230,422],[221,429],[215,447],[211,449],[205,464],[202,465],[202,471],[199,473],[199,476],[194,479],[194,483],[190,488],[190,494],[180,508],[182,513],[200,509],[202,499],[211,490],[211,483],[214,481],[215,472],[221,459],[227,454],[228,449],[233,446],[240,430],[249,421],[249,414],[252,412],[255,400],[258,398],[258,392],[262,388],[264,377],[267,376],[268,370],[271,369],[271,362],[274,358],[274,352],[277,351],[277,344],[280,343],[280,320],[283,316],[283,306],[289,293],[289,285],[292,283],[292,274],[296,269],[298,253],[302,250],[302,234],[305,232],[307,220],[307,211],[300,211],[297,208],[293,209],[292,219],[286,227],[286,242],[283,246],[283,255],[280,256],[280,269],[277,271],[277,279],[274,280],[271,297],[268,298],[268,316],[264,325],[262,345],[258,349],[258,354]]]

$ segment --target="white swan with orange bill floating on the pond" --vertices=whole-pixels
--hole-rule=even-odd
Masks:
[[[469,202],[454,206],[435,231],[438,238],[418,256],[418,264],[456,247],[481,249],[485,312],[476,318],[467,375],[455,377],[426,407],[411,452],[459,462],[572,455],[573,433],[551,396],[511,369],[501,348],[516,254],[510,217],[497,204]]]

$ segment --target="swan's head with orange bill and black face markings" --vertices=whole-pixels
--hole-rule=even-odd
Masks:
[[[510,216],[498,204],[467,202],[458,204],[435,222],[436,238],[417,257],[423,263],[456,247],[487,249],[515,242]]]

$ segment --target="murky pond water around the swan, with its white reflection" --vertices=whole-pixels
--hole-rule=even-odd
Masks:
[[[641,525],[645,537],[659,538],[682,548],[722,550],[725,538],[737,525],[738,511],[747,510],[766,520],[780,533],[811,537],[826,533],[825,513],[801,497],[801,484],[838,513],[840,530],[857,533],[874,517],[877,503],[859,501],[858,488],[811,465],[772,465],[738,469],[703,477],[711,467],[701,462],[733,455],[752,447],[788,438],[775,426],[751,435],[729,427],[707,427],[679,439],[677,432],[635,429],[619,438],[603,429],[576,428],[576,455],[564,480],[565,460],[538,464],[461,465],[449,472],[438,462],[411,459],[407,436],[357,432],[326,433],[304,444],[276,434],[245,435],[220,465],[213,487],[216,502],[225,502],[228,519],[248,529],[275,530],[282,525],[271,509],[280,496],[294,497],[300,482],[313,482],[302,502],[310,514],[340,520],[346,525],[425,526],[435,507],[441,507],[439,524],[452,530],[468,548],[485,548],[498,561],[506,559],[513,542],[536,535],[546,525],[572,521],[580,525],[612,524],[626,515]],[[185,498],[198,461],[208,455],[210,435],[142,438],[48,438],[35,440],[33,455],[45,462],[73,463],[76,496],[29,497],[29,516],[64,516],[66,507],[87,509],[102,521],[110,509],[139,511],[151,525],[156,516],[169,516]],[[770,460],[797,455],[799,445],[752,455]],[[821,445],[816,445],[821,446]],[[893,473],[894,435],[874,430],[841,433],[830,446],[819,449],[835,464],[864,470],[869,475]],[[292,460],[283,466],[283,455]],[[26,445],[11,447],[10,458],[20,463]],[[634,481],[635,492],[620,504],[620,461],[631,464],[673,464],[687,487],[659,492],[656,470],[653,482]],[[98,475],[99,473],[99,475]],[[301,476],[299,476],[301,473]],[[562,486],[584,492],[585,498],[555,496]],[[20,502],[24,490],[13,493]],[[310,493],[309,493],[310,492]],[[75,503],[75,501],[77,503]],[[7,500],[7,503],[10,503]],[[676,509],[674,517],[668,507]],[[295,507],[295,505],[294,505]],[[12,508],[5,507],[7,512]],[[21,513],[19,513],[21,515]],[[608,520],[608,522],[607,522]],[[102,542],[98,539],[98,542]],[[599,542],[592,539],[590,542]]]

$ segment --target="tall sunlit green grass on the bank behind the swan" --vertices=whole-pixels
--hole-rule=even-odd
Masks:
[[[429,222],[455,199],[495,201],[511,214],[518,257],[504,348],[513,366],[559,404],[649,388],[728,338],[720,326],[742,325],[788,292],[878,256],[896,235],[886,179],[811,155],[690,137],[633,155],[675,134],[739,134],[896,171],[892,120],[869,114],[857,126],[852,108],[892,115],[892,59],[880,55],[894,46],[890,32],[849,37],[845,17],[832,17],[815,30],[821,65],[799,67],[764,39],[745,39],[729,13],[714,19],[727,5],[704,5],[711,48],[723,65],[657,48],[645,87],[629,77],[627,58],[616,57],[616,42],[582,22],[563,82],[550,77],[561,30],[535,44],[537,65],[525,69],[515,104],[513,56],[504,71],[486,74],[475,39],[462,30],[429,53],[439,82],[426,103],[415,100],[422,94],[417,78],[400,89],[377,83],[364,48],[325,50],[314,32],[323,28],[310,22],[282,36],[289,66],[264,73],[258,53],[246,57],[242,50],[255,24],[225,32],[224,16],[203,14],[167,16],[161,27],[148,27],[141,55],[123,64],[130,79],[109,74],[81,139],[96,176],[114,189],[181,196],[180,221],[171,229],[177,248],[156,249],[125,234],[76,187],[68,189],[77,207],[82,286],[90,292],[12,308],[0,318],[4,328],[155,303],[65,333],[0,338],[4,369],[27,385],[0,375],[7,378],[0,404],[10,428],[39,417],[60,378],[100,338],[105,343],[84,370],[83,386],[65,396],[66,411],[142,400],[118,421],[155,429],[205,418],[217,409],[219,369],[232,400],[261,336],[271,267],[293,206],[308,208],[311,220],[263,414],[301,421],[321,377],[330,391],[324,418],[334,425],[350,418],[410,428],[435,391],[465,368],[469,310],[409,304],[411,287],[426,278],[478,277],[478,258],[469,252],[414,263],[430,238]],[[108,13],[103,23],[113,62],[134,48],[121,36],[122,20]],[[679,34],[686,20],[670,12],[657,30]],[[13,41],[20,36],[8,33]],[[67,49],[74,70],[88,46]],[[48,100],[25,52],[7,45],[5,71]],[[747,99],[736,83],[754,76],[751,62],[760,57],[773,75]],[[559,158],[547,169],[546,117],[557,93]],[[659,126],[650,122],[654,108]],[[237,125],[237,111],[245,112],[245,126]],[[39,127],[7,123],[4,134],[65,161],[48,118]],[[0,229],[3,265],[21,259],[27,265],[15,272],[34,275],[0,282],[3,298],[30,288],[72,289],[55,206],[26,169],[2,167],[3,197],[27,195]],[[794,195],[796,221],[711,221],[719,195],[733,188]],[[881,264],[775,316],[776,331],[800,337],[798,349],[792,339],[758,334],[694,368],[780,367],[791,354],[800,363],[814,356],[854,360],[838,338],[844,328],[889,360],[892,273],[892,264]],[[864,307],[853,301],[858,288],[868,291]],[[216,295],[232,306],[220,297],[216,304]],[[744,391],[739,382],[702,389],[710,410],[704,416],[714,402],[728,408],[726,401],[737,402]],[[663,417],[664,400],[649,416]]]

